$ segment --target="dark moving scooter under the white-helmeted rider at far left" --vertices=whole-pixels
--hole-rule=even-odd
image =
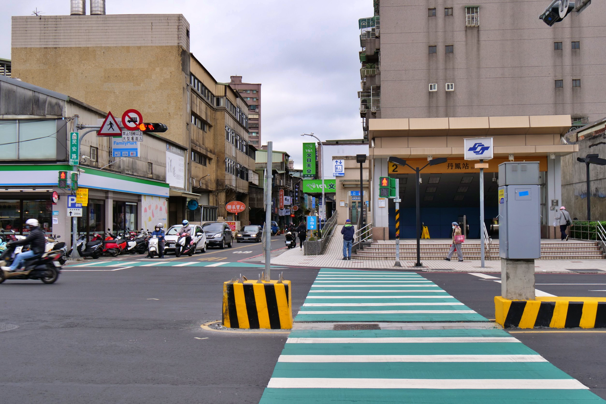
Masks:
[[[7,279],[39,279],[42,283],[55,283],[61,273],[61,264],[59,258],[63,255],[61,248],[65,243],[57,243],[55,247],[58,250],[47,251],[41,257],[25,260],[23,263],[25,269],[22,271],[10,272],[0,270],[0,283]],[[0,255],[0,265],[8,267],[15,257],[15,247],[8,245],[2,255]]]

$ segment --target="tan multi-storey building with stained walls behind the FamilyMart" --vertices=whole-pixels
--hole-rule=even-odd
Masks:
[[[225,203],[245,202],[255,168],[249,108],[191,55],[184,16],[14,16],[12,24],[13,78],[167,125],[163,136],[178,145],[168,150],[178,160],[167,176],[168,224],[228,220]],[[191,199],[198,210],[188,210]]]

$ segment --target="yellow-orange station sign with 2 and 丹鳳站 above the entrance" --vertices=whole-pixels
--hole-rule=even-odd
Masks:
[[[509,161],[507,157],[497,157],[496,159],[488,160],[488,168],[484,168],[484,173],[498,173],[499,164]],[[515,161],[538,161],[539,171],[547,171],[547,157],[543,156],[524,156],[516,158]],[[423,167],[427,164],[426,159],[408,159],[407,164],[412,167]],[[389,174],[414,174],[415,171],[410,168],[395,163],[387,163]],[[450,158],[442,164],[428,165],[422,171],[423,174],[444,174],[444,173],[479,173],[480,169],[474,167],[474,161],[468,161],[460,157]]]

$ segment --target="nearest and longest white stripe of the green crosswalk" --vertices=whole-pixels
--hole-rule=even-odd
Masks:
[[[268,388],[339,389],[589,389],[576,379],[362,379],[272,377]]]

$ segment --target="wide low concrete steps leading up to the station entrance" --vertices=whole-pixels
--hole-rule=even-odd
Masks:
[[[421,259],[423,260],[441,260],[446,257],[450,243],[447,242],[423,242],[421,243]],[[480,259],[480,243],[475,240],[466,241],[463,244],[464,260]],[[499,242],[493,241],[490,245],[490,252],[485,251],[486,259],[499,259]],[[599,248],[597,242],[592,241],[542,241],[541,259],[604,259],[605,255]],[[396,245],[393,242],[373,242],[370,245],[351,254],[351,259],[358,260],[395,260]],[[400,244],[401,260],[416,260],[416,243],[406,240]],[[453,255],[456,260],[456,253]]]

